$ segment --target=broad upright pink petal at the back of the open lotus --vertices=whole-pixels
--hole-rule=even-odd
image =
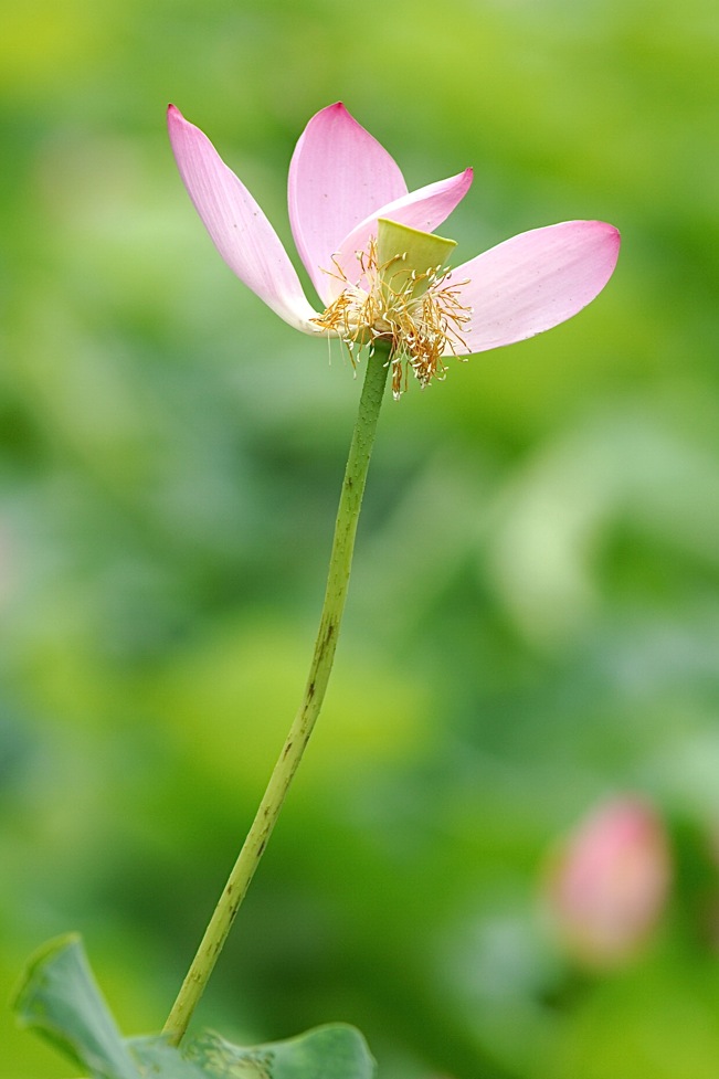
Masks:
[[[345,236],[378,207],[406,194],[399,167],[341,102],[313,116],[289,165],[289,223],[320,296]]]

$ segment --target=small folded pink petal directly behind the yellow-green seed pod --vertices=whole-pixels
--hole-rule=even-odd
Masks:
[[[458,176],[448,180],[437,180],[419,188],[410,194],[395,199],[385,207],[361,221],[350,234],[342,240],[339,251],[335,254],[335,264],[341,268],[347,279],[352,284],[360,284],[360,267],[358,252],[367,250],[370,236],[377,236],[377,219],[389,218],[399,224],[419,229],[420,232],[434,232],[442,222],[450,216],[454,208],[464,199],[472,186],[474,172],[465,169]],[[342,282],[327,274],[323,283],[324,292],[319,295],[326,303],[335,299],[342,290]]]

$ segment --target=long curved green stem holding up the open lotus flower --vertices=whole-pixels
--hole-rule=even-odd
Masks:
[[[389,355],[382,348],[377,348],[367,360],[367,373],[360,398],[359,413],[337,511],[325,603],[305,694],[269,777],[267,790],[260,803],[252,827],[247,833],[247,838],[165,1024],[163,1034],[167,1035],[171,1045],[179,1045],[182,1040],[192,1013],[212,974],[240,905],[247,892],[255,869],[277,822],[279,811],[325,699],[325,690],[332,668],[339,626],[347,599],[355,535],[389,366]]]

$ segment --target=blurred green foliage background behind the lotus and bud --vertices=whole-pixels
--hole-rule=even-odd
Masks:
[[[199,1015],[357,1024],[387,1079],[715,1079],[715,0],[6,0],[0,987],[82,931],[128,1034],[175,997],[304,684],[359,382],[208,241],[173,101],[285,241],[338,98],[463,258],[600,218],[617,272],[381,420],[327,706]],[[612,792],[672,901],[591,972],[548,851]],[[66,1077],[0,1017],[1,1073]]]

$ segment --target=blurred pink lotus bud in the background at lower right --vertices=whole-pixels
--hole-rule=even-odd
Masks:
[[[590,814],[551,867],[549,901],[568,950],[592,966],[631,958],[666,903],[672,864],[663,824],[636,797]]]

